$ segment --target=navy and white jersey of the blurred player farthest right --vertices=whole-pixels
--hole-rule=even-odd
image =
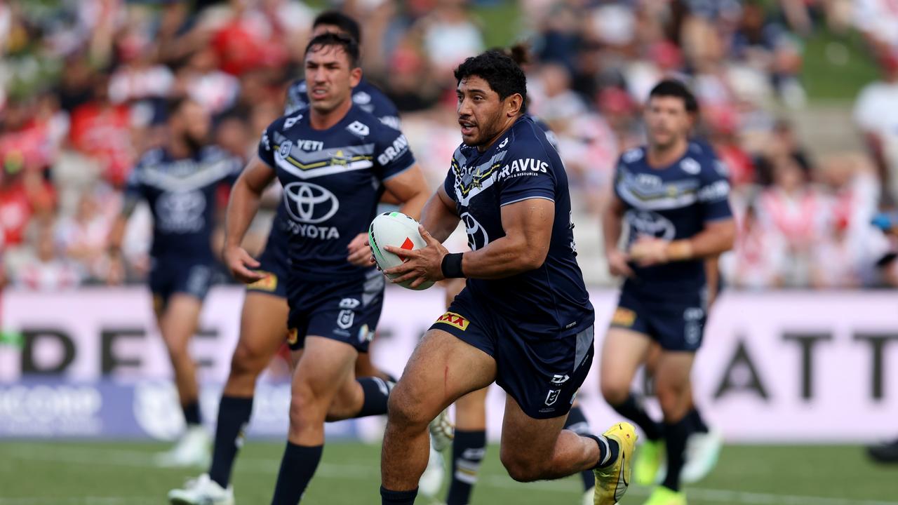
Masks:
[[[710,146],[697,141],[689,143],[682,158],[660,169],[648,165],[646,147],[630,149],[618,162],[614,192],[627,208],[629,244],[639,235],[690,238],[709,221],[733,217],[726,167]],[[703,260],[631,267],[636,278],[627,279],[624,288],[664,295],[701,289],[706,283]]]

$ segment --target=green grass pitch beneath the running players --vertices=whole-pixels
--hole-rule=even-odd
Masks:
[[[196,474],[150,465],[163,446],[140,443],[0,443],[0,505],[149,505]],[[281,444],[251,442],[233,479],[237,503],[269,503]],[[334,443],[304,503],[376,505],[380,447]],[[522,484],[490,447],[474,504],[577,505],[579,480]],[[631,488],[621,505],[645,500]],[[867,462],[858,447],[726,447],[716,471],[687,488],[691,505],[898,505],[898,467]],[[430,503],[423,498],[418,503]]]

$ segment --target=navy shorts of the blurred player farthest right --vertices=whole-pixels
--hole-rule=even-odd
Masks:
[[[658,297],[631,289],[621,290],[612,327],[648,335],[664,350],[695,352],[708,321],[700,291],[677,297]]]

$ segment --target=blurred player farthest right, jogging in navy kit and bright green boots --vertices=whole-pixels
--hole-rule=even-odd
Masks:
[[[732,248],[735,239],[726,173],[707,146],[688,138],[697,111],[695,97],[678,81],[652,89],[648,145],[621,155],[603,215],[609,267],[626,281],[604,342],[602,392],[648,439],[665,440],[665,480],[650,505],[686,502],[680,474],[693,424],[690,373],[707,320],[705,260]],[[621,251],[624,223],[629,244]],[[661,348],[654,378],[663,430],[629,389],[653,342]]]

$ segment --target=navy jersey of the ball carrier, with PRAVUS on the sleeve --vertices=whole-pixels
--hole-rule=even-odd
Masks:
[[[577,265],[568,174],[558,152],[533,119],[524,116],[485,152],[462,144],[453,154],[446,193],[468,234],[482,249],[505,236],[502,206],[524,199],[555,202],[546,261],[536,270],[505,279],[468,279],[467,288],[497,315],[527,332],[557,335],[594,321],[583,273]]]

